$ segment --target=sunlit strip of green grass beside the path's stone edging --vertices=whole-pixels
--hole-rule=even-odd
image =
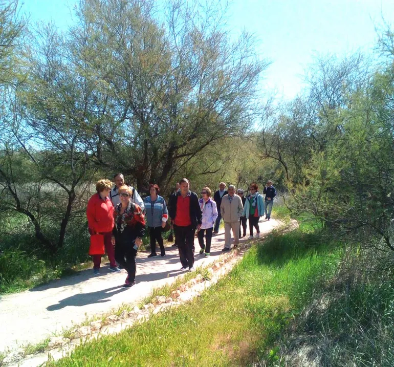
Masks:
[[[190,304],[84,343],[49,365],[248,365],[267,357],[280,331],[333,275],[337,255],[314,233],[270,236]]]

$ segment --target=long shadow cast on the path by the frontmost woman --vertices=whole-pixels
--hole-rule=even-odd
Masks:
[[[51,305],[47,307],[48,311],[56,311],[60,310],[67,306],[85,306],[95,303],[105,303],[111,300],[111,296],[123,291],[126,291],[126,288],[121,288],[122,286],[102,289],[97,292],[90,293],[78,293],[74,294],[70,297],[64,298],[59,301],[56,305]],[[114,291],[114,292],[112,292]]]

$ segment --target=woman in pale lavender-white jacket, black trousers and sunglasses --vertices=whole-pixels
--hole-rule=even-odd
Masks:
[[[197,236],[201,247],[200,254],[203,254],[205,250],[205,257],[208,257],[211,251],[213,226],[218,213],[216,203],[211,199],[211,189],[209,187],[204,187],[201,190],[201,195],[203,196],[202,199],[200,199],[200,207],[203,212],[203,224]],[[204,245],[204,235],[206,245]]]

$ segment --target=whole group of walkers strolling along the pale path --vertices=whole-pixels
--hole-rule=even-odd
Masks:
[[[190,190],[190,183],[182,179],[168,200],[159,195],[160,188],[156,184],[149,185],[149,196],[142,200],[137,190],[125,185],[124,176],[114,176],[115,187],[110,180],[99,180],[96,191],[87,203],[86,215],[91,235],[89,254],[93,258],[93,273],[100,274],[101,256],[107,253],[110,260],[110,271],[120,272],[117,266],[127,271],[123,285],[130,288],[135,285],[136,256],[147,226],[150,237],[150,254],[158,256],[156,242],[160,247],[160,255],[165,256],[163,230],[173,230],[175,244],[178,247],[182,268],[194,270],[194,236],[200,245],[200,254],[210,256],[212,235],[217,234],[223,218],[225,226],[225,243],[223,252],[230,251],[231,231],[234,247],[239,238],[246,235],[249,219],[249,239],[259,236],[258,221],[264,214],[270,220],[272,205],[276,196],[275,187],[268,181],[263,195],[258,192],[257,184],[250,185],[250,194],[244,197],[244,190],[221,182],[212,199],[209,187],[201,190],[201,199]],[[241,228],[243,232],[241,233]],[[242,235],[241,235],[242,234]]]

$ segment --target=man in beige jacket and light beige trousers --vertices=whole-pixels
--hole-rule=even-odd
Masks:
[[[239,218],[244,211],[242,199],[236,195],[235,186],[230,185],[228,194],[222,198],[220,205],[222,218],[224,221],[224,248],[223,252],[230,251],[231,248],[231,230],[234,236],[234,247],[239,243]]]

